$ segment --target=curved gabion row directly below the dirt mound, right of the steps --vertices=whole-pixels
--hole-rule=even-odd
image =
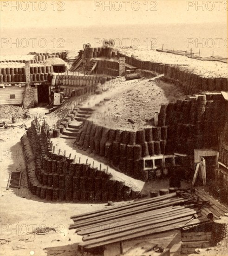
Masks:
[[[167,127],[145,128],[137,132],[109,129],[85,121],[76,144],[89,153],[105,156],[127,175],[145,180],[142,157],[165,153]]]

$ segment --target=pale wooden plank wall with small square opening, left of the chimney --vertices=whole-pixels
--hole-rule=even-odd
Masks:
[[[6,88],[0,88],[0,105],[18,104],[23,101],[23,92],[25,87],[19,88],[18,86],[11,86]],[[9,95],[15,94],[15,99],[10,99]]]

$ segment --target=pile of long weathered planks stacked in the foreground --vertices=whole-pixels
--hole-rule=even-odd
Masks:
[[[72,216],[74,223],[69,229],[83,236],[80,248],[91,249],[208,222],[200,217],[194,203],[193,197],[184,199],[176,192],[170,193]]]

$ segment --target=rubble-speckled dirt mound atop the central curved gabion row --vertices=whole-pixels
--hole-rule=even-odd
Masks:
[[[122,90],[116,90],[110,101],[103,101],[90,120],[108,128],[138,130],[151,126],[150,120],[155,112],[160,112],[162,104],[186,98],[181,89],[156,77],[122,81],[121,84]]]

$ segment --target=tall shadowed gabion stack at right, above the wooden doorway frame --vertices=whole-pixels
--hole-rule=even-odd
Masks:
[[[221,95],[197,95],[163,105],[159,125],[168,126],[166,153],[194,154],[194,149],[217,149],[217,134],[225,121]]]

